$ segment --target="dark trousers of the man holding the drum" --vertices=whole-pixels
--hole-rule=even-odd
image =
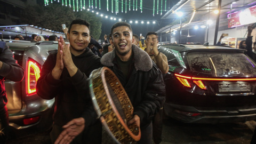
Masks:
[[[140,129],[141,137],[140,140],[137,142],[138,144],[151,144],[152,143],[152,123],[150,123],[144,129]]]

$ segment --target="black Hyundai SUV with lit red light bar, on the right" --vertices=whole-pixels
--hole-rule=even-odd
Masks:
[[[168,44],[164,77],[167,116],[186,123],[245,122],[256,118],[256,63],[245,50]]]

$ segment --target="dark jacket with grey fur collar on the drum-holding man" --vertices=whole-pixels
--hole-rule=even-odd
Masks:
[[[140,127],[150,124],[165,99],[165,86],[161,71],[149,55],[139,47],[132,45],[133,66],[126,81],[116,62],[116,50],[101,58],[101,64],[110,68],[122,83],[134,108],[133,115],[140,117]]]

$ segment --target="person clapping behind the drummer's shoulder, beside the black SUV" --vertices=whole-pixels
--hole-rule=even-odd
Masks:
[[[166,74],[169,71],[167,57],[158,51],[158,35],[155,32],[148,32],[146,35],[145,51],[149,54],[149,57],[156,63],[156,66],[161,70],[162,74]],[[163,131],[163,107],[164,101],[161,103],[161,108],[153,119],[153,140],[156,144],[162,141]]]

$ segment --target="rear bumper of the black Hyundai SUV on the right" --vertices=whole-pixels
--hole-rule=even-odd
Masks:
[[[185,123],[230,123],[256,119],[254,107],[202,108],[164,104],[165,115]]]

